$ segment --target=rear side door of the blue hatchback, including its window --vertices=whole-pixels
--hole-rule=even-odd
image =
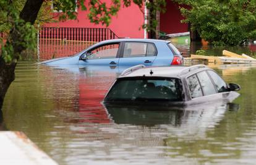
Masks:
[[[135,66],[143,64],[151,66],[157,55],[156,46],[147,42],[125,42],[122,44],[122,53],[119,66]]]

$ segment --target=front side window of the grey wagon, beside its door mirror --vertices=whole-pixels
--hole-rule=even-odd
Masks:
[[[224,82],[224,80],[218,74],[211,70],[207,70],[207,72],[213,79],[213,82],[215,83],[215,87],[217,88],[218,93],[229,91],[226,82]]]

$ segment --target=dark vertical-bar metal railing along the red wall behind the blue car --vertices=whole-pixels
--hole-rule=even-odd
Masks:
[[[116,39],[118,36],[109,28],[42,27],[39,32],[39,38],[100,42]]]

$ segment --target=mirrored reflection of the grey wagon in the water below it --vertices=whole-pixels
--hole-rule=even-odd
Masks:
[[[235,103],[207,103],[187,107],[151,105],[105,105],[110,119],[116,124],[134,124],[154,126],[160,124],[175,127],[214,127],[221,116],[228,111],[238,111],[239,104]],[[215,120],[218,119],[218,120]],[[195,124],[197,127],[195,127]]]

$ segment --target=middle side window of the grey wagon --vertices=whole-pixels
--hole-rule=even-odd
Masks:
[[[217,93],[213,83],[211,82],[210,77],[207,74],[207,72],[205,72],[205,71],[199,72],[197,74],[197,77],[198,77],[198,80],[199,80],[200,85],[202,87],[204,96],[212,95],[212,94]]]

